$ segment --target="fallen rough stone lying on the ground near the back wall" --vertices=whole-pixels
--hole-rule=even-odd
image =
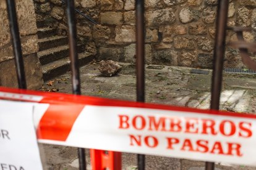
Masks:
[[[117,62],[114,62],[113,60],[102,60],[100,62],[100,67],[98,68],[100,72],[108,77],[114,76],[117,73],[119,73],[122,70],[121,65],[119,65]]]

